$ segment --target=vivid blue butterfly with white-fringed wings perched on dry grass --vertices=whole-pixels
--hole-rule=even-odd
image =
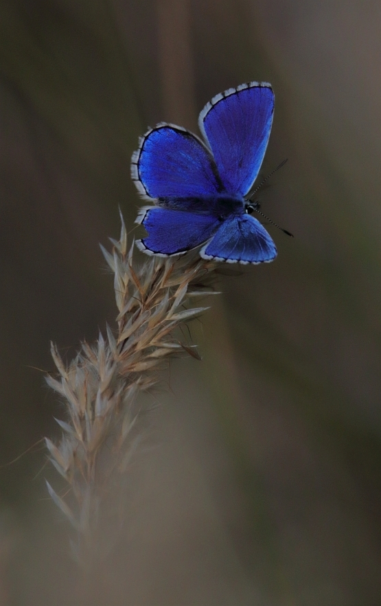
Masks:
[[[148,255],[181,255],[203,244],[200,256],[228,263],[273,261],[277,248],[246,200],[264,159],[274,113],[267,82],[241,84],[206,104],[198,125],[204,141],[161,123],[139,140],[131,176],[143,207],[136,222]]]

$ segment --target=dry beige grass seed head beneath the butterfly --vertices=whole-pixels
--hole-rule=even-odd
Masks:
[[[56,419],[60,442],[46,439],[46,445],[69,490],[62,498],[49,484],[47,488],[78,531],[73,551],[86,567],[102,557],[99,529],[106,504],[118,502],[114,492],[123,485],[122,476],[143,437],[147,411],[137,396],[161,380],[164,360],[181,354],[200,359],[178,328],[208,309],[192,307],[191,300],[215,293],[216,264],[198,253],[135,261],[123,218],[120,240],[111,242],[112,253],[101,248],[114,274],[117,330],[107,326],[106,336],[100,334],[95,344],[82,343],[68,366],[52,344],[58,373],[47,377],[65,402],[66,415]]]

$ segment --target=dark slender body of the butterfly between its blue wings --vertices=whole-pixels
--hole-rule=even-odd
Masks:
[[[159,198],[160,207],[200,215],[212,215],[221,221],[228,217],[242,215],[245,212],[244,198],[220,194],[219,196],[200,196],[198,198]]]

